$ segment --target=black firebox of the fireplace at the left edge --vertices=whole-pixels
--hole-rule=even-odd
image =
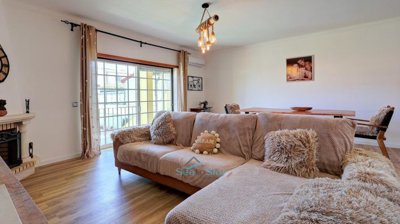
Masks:
[[[21,165],[21,133],[17,128],[0,131],[0,156],[10,168]]]

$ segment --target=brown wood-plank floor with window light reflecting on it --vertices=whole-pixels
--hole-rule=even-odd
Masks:
[[[400,174],[400,149],[389,154]],[[40,167],[22,184],[49,223],[163,223],[188,197],[126,171],[118,176],[113,163],[105,150],[95,159]]]

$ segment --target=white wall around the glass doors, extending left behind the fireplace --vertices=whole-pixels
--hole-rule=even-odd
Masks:
[[[181,49],[107,24],[0,0],[0,44],[6,49],[11,65],[9,77],[0,84],[0,98],[7,100],[9,113],[23,113],[24,99],[31,99],[36,118],[29,127],[30,141],[34,142],[41,164],[80,154],[79,108],[71,105],[79,101],[79,29],[70,32],[60,19],[83,21],[98,29]],[[149,46],[140,48],[138,44],[103,34],[98,36],[98,51],[177,64],[175,52]]]

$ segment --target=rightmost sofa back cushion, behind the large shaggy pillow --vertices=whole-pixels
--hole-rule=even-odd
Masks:
[[[313,129],[318,134],[317,167],[334,175],[342,173],[341,162],[353,148],[356,124],[339,118],[281,115],[260,113],[257,115],[252,157],[264,157],[264,136],[280,129]]]

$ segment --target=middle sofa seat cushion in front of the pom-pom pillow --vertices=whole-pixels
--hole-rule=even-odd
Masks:
[[[225,172],[245,163],[245,159],[218,153],[196,154],[190,148],[168,153],[160,159],[159,172],[190,185],[203,188]]]

